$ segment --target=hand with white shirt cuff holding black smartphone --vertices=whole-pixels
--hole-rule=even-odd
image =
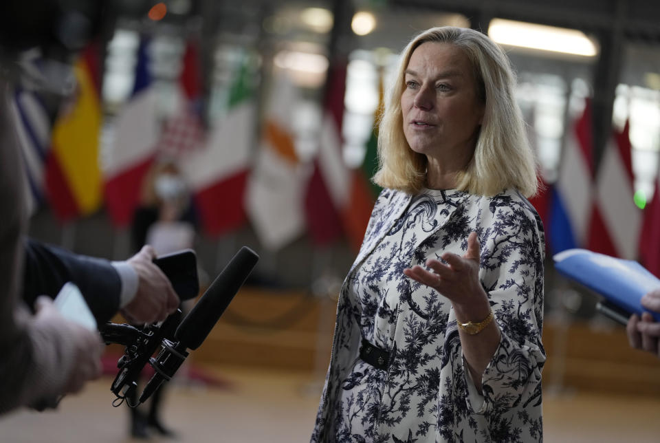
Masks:
[[[122,309],[122,315],[131,323],[161,321],[179,307],[179,297],[170,281],[153,264],[155,257],[155,250],[147,245],[128,260],[140,277],[135,298]]]

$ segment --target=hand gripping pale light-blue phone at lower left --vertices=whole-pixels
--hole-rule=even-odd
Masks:
[[[101,354],[104,345],[96,331],[64,318],[47,296],[40,296],[34,303],[35,325],[42,331],[51,331],[65,339],[70,361],[64,356],[62,370],[68,371],[61,393],[76,393],[85,383],[101,375]]]

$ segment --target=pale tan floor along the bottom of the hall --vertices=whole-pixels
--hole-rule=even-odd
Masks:
[[[226,381],[208,389],[173,380],[164,405],[179,442],[307,442],[320,380],[309,372],[213,369]],[[57,411],[19,411],[0,419],[0,442],[137,442],[128,414],[111,406],[110,378],[65,398]],[[545,442],[660,442],[660,398],[544,393]],[[173,440],[152,437],[151,442]]]

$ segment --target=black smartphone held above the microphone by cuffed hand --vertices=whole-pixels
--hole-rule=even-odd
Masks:
[[[199,294],[197,279],[197,255],[192,249],[184,249],[153,259],[172,283],[179,300],[194,299]]]

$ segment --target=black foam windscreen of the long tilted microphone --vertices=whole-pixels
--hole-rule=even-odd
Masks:
[[[175,338],[190,349],[197,349],[245,283],[259,255],[243,246],[211,283],[190,313],[181,321]]]

